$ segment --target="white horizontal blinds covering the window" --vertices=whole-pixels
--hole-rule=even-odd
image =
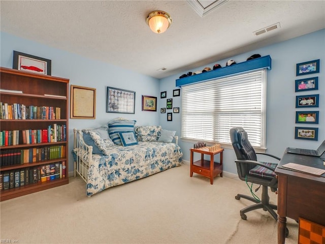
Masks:
[[[255,147],[265,147],[265,69],[182,87],[182,138],[231,143],[243,127]]]

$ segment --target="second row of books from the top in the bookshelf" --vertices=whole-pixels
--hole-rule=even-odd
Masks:
[[[21,139],[20,139],[21,138]],[[20,141],[19,141],[20,139]],[[0,146],[59,142],[67,140],[66,125],[49,125],[47,129],[0,132]]]

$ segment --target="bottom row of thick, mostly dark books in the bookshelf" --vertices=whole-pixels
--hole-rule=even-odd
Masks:
[[[0,190],[8,190],[29,184],[65,178],[66,174],[66,161],[55,164],[2,171],[0,173]]]

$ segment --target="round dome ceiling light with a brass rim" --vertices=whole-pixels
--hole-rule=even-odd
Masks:
[[[161,34],[166,32],[166,30],[172,24],[172,18],[164,11],[155,10],[148,15],[147,24],[149,25],[151,31]]]

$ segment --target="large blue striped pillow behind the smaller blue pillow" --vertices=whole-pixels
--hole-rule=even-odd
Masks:
[[[116,145],[122,145],[120,132],[134,131],[136,120],[116,119],[108,123],[108,134]]]

